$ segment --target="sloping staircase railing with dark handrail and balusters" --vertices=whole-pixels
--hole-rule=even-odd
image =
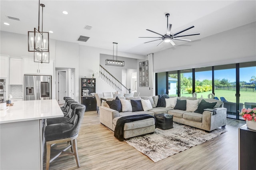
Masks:
[[[120,81],[118,81],[112,74],[110,74],[102,65],[100,65],[100,79],[107,83],[114,91],[118,93],[129,93],[127,89]]]

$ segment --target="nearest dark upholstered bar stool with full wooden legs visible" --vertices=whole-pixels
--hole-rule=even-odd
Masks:
[[[47,125],[45,128],[44,137],[46,140],[46,170],[49,170],[50,162],[56,159],[62,152],[74,155],[76,158],[76,164],[78,167],[80,167],[76,138],[78,137],[80,124],[84,117],[85,106],[74,104],[71,105],[71,109],[74,110],[75,117],[70,123]],[[64,150],[60,150],[60,153],[50,160],[51,145],[63,142],[70,142],[71,144],[69,144]],[[71,152],[67,152],[66,150],[68,150],[70,147]]]

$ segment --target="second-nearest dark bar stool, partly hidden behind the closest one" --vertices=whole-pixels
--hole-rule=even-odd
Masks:
[[[74,119],[74,110],[71,109],[71,106],[74,104],[79,104],[77,101],[68,101],[68,112],[64,117],[55,117],[46,120],[46,125],[59,124],[59,123],[69,123]]]

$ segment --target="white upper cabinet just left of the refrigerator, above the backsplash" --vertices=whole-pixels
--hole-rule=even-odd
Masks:
[[[10,85],[23,84],[23,59],[10,58]]]

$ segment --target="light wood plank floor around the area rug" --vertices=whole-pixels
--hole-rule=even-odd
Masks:
[[[113,132],[100,124],[96,111],[86,112],[77,138],[81,167],[76,166],[74,156],[63,155],[50,163],[50,170],[237,170],[238,127],[244,124],[227,119],[228,132],[154,163],[126,142],[117,140]],[[63,145],[66,144],[53,147]]]

